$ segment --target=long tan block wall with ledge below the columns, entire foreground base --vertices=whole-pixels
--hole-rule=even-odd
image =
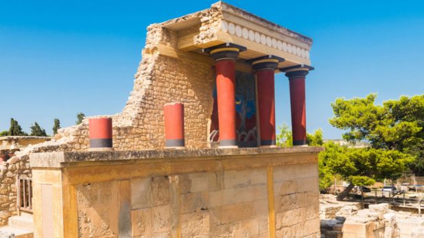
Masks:
[[[31,155],[35,237],[320,237],[320,147]]]

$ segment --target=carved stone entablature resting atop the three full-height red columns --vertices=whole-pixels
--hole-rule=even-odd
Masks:
[[[208,11],[216,12],[215,17],[199,16],[199,13]],[[183,51],[196,52],[198,49],[231,42],[248,48],[240,55],[244,60],[274,55],[286,59],[287,62],[279,64],[281,68],[311,64],[311,38],[222,1],[212,4],[208,10],[161,24],[167,29],[181,32],[178,34],[177,48]]]

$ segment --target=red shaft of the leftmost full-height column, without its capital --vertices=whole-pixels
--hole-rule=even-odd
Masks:
[[[215,70],[220,147],[237,147],[237,134],[235,132],[235,60],[217,60]]]

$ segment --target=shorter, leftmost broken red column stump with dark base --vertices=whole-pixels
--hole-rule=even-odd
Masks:
[[[111,150],[112,119],[99,117],[89,119],[90,150]]]

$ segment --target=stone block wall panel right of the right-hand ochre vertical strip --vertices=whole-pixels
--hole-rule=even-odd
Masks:
[[[320,230],[318,165],[274,168],[276,237],[307,237]]]

